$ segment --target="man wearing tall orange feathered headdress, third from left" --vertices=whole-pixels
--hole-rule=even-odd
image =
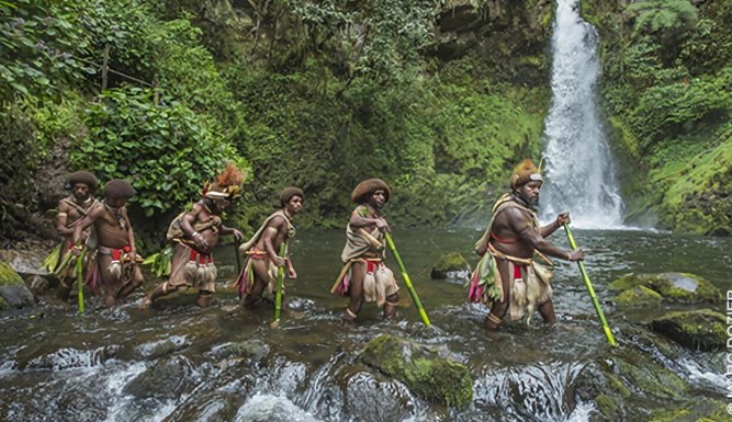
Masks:
[[[143,299],[147,307],[155,299],[184,287],[199,289],[196,305],[211,305],[215,292],[216,266],[211,251],[222,235],[234,235],[240,241],[239,230],[222,223],[222,212],[239,196],[244,174],[234,164],[218,174],[216,183],[206,185],[202,198],[189,212],[180,214],[168,229],[168,241],[173,242],[170,278],[157,286]]]

